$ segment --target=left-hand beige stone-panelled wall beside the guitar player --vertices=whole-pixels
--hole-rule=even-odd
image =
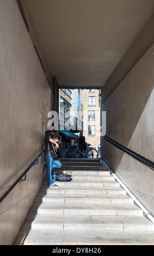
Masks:
[[[44,145],[52,93],[15,0],[0,0],[0,196]],[[45,176],[41,159],[0,205],[0,245],[12,245]]]

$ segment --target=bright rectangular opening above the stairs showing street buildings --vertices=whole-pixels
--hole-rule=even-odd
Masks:
[[[59,134],[62,138],[60,145],[62,158],[68,158],[66,154],[68,149],[77,147],[77,138],[81,132],[87,147],[96,149],[98,153],[93,153],[93,157],[101,157],[100,127],[101,89],[59,88]],[[86,157],[87,155],[84,158]]]

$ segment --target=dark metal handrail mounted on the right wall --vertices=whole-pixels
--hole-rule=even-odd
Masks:
[[[135,160],[138,160],[140,163],[143,163],[145,166],[154,170],[154,162],[150,161],[149,159],[146,159],[144,156],[141,156],[141,155],[135,153],[131,149],[124,147],[123,145],[119,144],[118,142],[113,141],[113,139],[110,139],[107,136],[104,136],[104,139],[106,141],[108,141],[109,143],[113,144],[116,148],[119,148],[120,150],[124,151],[126,154],[132,156]]]

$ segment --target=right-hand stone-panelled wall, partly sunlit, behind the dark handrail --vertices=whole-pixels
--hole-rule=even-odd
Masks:
[[[107,97],[102,110],[107,111],[106,136],[154,162],[153,47],[145,52]],[[102,152],[110,168],[154,215],[153,170],[122,153],[103,138]]]

